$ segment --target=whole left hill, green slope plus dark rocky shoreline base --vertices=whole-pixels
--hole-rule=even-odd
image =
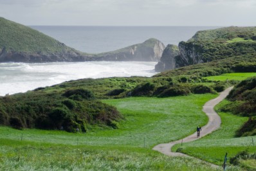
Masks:
[[[89,55],[13,21],[0,17],[0,62],[86,60]]]

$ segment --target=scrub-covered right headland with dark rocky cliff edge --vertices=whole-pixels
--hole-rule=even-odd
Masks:
[[[175,60],[162,60],[156,71],[165,71],[165,66],[189,66],[212,60],[256,53],[256,27],[228,27],[197,31],[187,42],[179,42],[179,55]],[[166,58],[166,57],[161,57]],[[160,67],[162,66],[162,67]],[[174,67],[175,68],[175,67]],[[174,69],[169,68],[169,69]]]

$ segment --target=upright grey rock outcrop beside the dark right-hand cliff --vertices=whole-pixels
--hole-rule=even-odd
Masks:
[[[164,49],[160,58],[160,62],[156,64],[155,71],[161,72],[176,68],[176,56],[179,55],[179,48],[176,45],[168,44]]]

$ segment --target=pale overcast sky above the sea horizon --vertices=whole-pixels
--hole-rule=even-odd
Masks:
[[[25,25],[256,26],[256,0],[0,0]]]

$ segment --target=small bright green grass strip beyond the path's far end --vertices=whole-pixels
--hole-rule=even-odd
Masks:
[[[245,80],[248,77],[256,76],[256,73],[226,73],[218,76],[206,76],[207,80],[224,81],[224,80]]]

